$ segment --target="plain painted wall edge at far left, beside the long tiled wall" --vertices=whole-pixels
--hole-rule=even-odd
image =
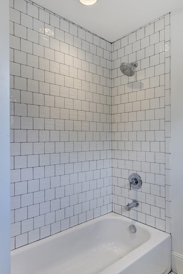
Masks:
[[[0,9],[0,273],[10,274],[10,177],[9,177],[9,2]]]

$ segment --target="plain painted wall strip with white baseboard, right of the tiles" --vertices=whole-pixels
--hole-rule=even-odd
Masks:
[[[182,214],[182,165],[183,165],[183,87],[182,45],[183,9],[170,14],[171,37],[171,234],[172,269],[183,273],[183,214]]]

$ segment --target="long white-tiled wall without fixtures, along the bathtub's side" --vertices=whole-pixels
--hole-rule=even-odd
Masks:
[[[112,211],[111,43],[10,1],[12,249]]]

